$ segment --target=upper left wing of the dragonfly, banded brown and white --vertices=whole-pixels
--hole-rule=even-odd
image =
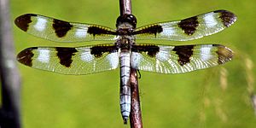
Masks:
[[[43,15],[20,15],[15,19],[21,30],[55,42],[113,40],[116,32],[106,26],[56,20]]]

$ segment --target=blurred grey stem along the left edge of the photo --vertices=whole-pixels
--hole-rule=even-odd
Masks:
[[[9,17],[9,0],[0,0],[0,75],[2,85],[1,128],[20,128],[20,75]]]

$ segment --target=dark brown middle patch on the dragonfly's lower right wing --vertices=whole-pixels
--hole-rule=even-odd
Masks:
[[[178,55],[178,63],[183,66],[190,61],[191,55],[193,55],[194,45],[175,46],[173,51],[176,51]]]

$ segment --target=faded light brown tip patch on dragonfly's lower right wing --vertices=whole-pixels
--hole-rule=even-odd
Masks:
[[[218,50],[216,51],[218,55],[218,64],[224,64],[227,61],[232,60],[233,51],[223,45],[214,44],[213,46],[217,46]]]

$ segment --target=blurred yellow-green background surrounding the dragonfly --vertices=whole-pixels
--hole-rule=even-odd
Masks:
[[[61,20],[115,26],[118,0],[11,0],[11,18],[26,13]],[[224,44],[233,61],[192,73],[142,73],[139,79],[143,125],[156,127],[255,127],[250,101],[256,62],[255,0],[133,0],[138,25],[180,20],[217,9],[235,13],[233,26],[189,42],[137,41],[155,44]],[[14,25],[14,24],[13,24]],[[53,43],[21,32],[15,25],[15,49],[32,46],[81,46]],[[86,76],[44,72],[18,64],[22,78],[21,118],[26,128],[130,127],[119,110],[119,69]]]

